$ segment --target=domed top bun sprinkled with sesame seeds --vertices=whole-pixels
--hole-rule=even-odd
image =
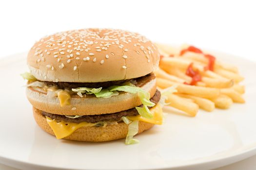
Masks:
[[[49,82],[107,82],[149,74],[159,52],[144,36],[123,30],[82,29],[40,39],[27,64],[32,74]]]

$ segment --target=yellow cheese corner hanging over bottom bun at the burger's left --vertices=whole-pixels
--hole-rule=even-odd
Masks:
[[[52,128],[57,139],[70,136],[75,130],[77,130],[80,127],[89,127],[97,124],[97,123],[87,123],[87,122],[80,122],[80,123],[72,123],[72,122],[65,122],[65,121],[57,122],[55,119],[51,119],[49,117],[46,117],[46,120],[49,126]]]

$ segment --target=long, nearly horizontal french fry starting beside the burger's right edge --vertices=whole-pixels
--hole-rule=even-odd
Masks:
[[[162,78],[157,78],[157,85],[160,88],[167,88],[172,85],[177,85],[178,93],[185,93],[203,98],[213,98],[220,94],[220,91],[217,88],[183,85]]]

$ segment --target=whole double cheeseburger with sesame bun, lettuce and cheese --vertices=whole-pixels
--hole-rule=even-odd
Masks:
[[[82,29],[40,39],[27,56],[26,95],[37,124],[58,139],[109,141],[162,123],[153,71],[159,52],[144,36]]]

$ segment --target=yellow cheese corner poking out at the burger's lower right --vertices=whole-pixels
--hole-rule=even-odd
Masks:
[[[140,115],[129,116],[127,118],[130,120],[139,120],[139,121],[144,121],[144,122],[152,123],[152,124],[162,124],[163,123],[163,112],[162,112],[162,107],[160,106],[160,104],[157,104],[156,106],[152,107],[150,109],[150,111],[153,114],[152,119],[143,118]]]

